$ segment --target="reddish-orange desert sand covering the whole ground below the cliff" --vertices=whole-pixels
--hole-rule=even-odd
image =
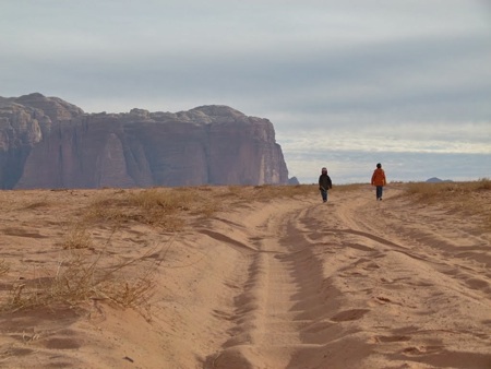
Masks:
[[[161,224],[124,200],[145,190],[0,192],[0,367],[491,368],[490,191],[306,188],[180,189]],[[44,300],[73,258],[152,288]]]

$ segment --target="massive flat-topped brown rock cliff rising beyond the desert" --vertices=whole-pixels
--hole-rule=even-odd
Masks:
[[[56,97],[0,97],[2,189],[285,184],[271,121],[226,106],[85,114]]]

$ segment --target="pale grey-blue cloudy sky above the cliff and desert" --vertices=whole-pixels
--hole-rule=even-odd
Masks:
[[[227,105],[290,177],[491,178],[491,0],[0,0],[0,96]]]

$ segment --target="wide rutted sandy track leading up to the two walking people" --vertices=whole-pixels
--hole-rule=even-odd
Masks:
[[[447,235],[458,216],[439,228],[397,194],[378,203],[367,188],[250,224],[258,251],[205,367],[488,367],[489,235]]]

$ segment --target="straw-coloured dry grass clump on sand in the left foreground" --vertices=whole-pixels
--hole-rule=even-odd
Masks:
[[[88,250],[87,245],[92,245],[88,238],[84,229],[74,229],[68,237],[70,241],[63,245],[62,258],[56,266],[34,271],[31,278],[23,278],[21,283],[5,283],[11,288],[9,294],[0,295],[0,310],[17,311],[60,303],[76,306],[91,299],[108,300],[137,311],[147,310],[157,270],[157,262],[147,260],[155,253],[155,248],[130,261],[115,261],[105,248],[98,253]],[[0,263],[0,271],[3,270],[0,275],[8,272],[4,262]]]

